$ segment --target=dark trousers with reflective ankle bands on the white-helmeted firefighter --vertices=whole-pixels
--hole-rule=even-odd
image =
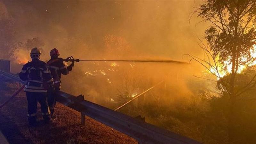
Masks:
[[[28,122],[30,125],[36,123],[37,102],[41,105],[41,112],[45,121],[50,119],[50,110],[47,103],[47,93],[26,92],[28,100]]]

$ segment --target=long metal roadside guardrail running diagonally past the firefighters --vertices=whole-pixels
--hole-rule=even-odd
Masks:
[[[19,77],[11,73],[0,71],[0,74],[23,83]],[[154,144],[197,144],[199,142],[187,137],[172,133],[154,125],[142,122],[136,118],[124,115],[117,111],[84,100],[84,96],[74,96],[60,91],[57,101],[80,112],[82,124],[85,124],[84,115],[108,125],[124,134],[138,140],[139,143]]]

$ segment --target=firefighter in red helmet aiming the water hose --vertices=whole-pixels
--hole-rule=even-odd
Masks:
[[[48,104],[51,111],[51,117],[55,118],[53,114],[56,105],[56,94],[58,93],[58,91],[60,91],[61,87],[61,74],[67,75],[70,71],[72,71],[74,63],[66,67],[65,64],[63,64],[62,59],[58,58],[60,56],[60,52],[56,48],[50,51],[50,56],[51,59],[47,62],[47,66],[52,73],[52,77],[54,80],[54,89],[48,90]]]

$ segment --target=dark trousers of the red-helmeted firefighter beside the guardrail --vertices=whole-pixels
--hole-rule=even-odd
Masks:
[[[60,83],[54,84],[54,90],[48,90],[48,104],[51,111],[51,114],[53,115],[55,105],[56,105],[56,96],[57,93],[60,91]]]

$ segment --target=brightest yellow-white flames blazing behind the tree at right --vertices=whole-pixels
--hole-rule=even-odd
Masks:
[[[256,53],[255,53],[255,51],[256,51],[256,45],[254,45],[253,47],[254,47],[254,50],[251,50],[251,51],[250,51],[250,52],[251,52],[251,56],[252,56],[253,58],[256,58]],[[246,58],[243,58],[243,59],[244,59],[244,61],[247,60]],[[229,64],[228,61],[225,61],[224,64],[227,65],[227,70],[226,70],[226,71],[223,70],[222,65],[219,64],[219,65],[218,65],[218,72],[219,72],[219,73],[218,73],[214,68],[211,68],[211,69],[210,69],[211,72],[214,73],[214,74],[216,74],[217,76],[220,76],[221,78],[224,77],[226,74],[231,73],[231,71],[232,71],[232,64]],[[255,64],[256,64],[256,60],[253,61],[252,63],[245,63],[244,65],[239,65],[239,66],[238,66],[238,69],[237,69],[237,73],[241,73],[241,72],[246,68],[246,65],[247,65],[247,66],[252,66],[252,65],[255,65]],[[218,79],[219,79],[219,78],[218,78]]]

